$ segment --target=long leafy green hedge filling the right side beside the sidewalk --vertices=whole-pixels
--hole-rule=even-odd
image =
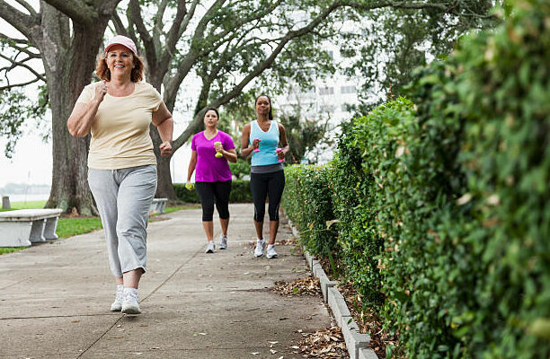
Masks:
[[[515,4],[287,170],[298,228],[335,222],[306,247],[335,243],[406,357],[550,357],[550,4]]]

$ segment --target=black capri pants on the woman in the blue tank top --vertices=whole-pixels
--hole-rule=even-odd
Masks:
[[[263,222],[266,197],[270,199],[268,207],[270,221],[279,221],[279,204],[285,189],[285,172],[251,173],[250,189],[254,202],[254,221]]]

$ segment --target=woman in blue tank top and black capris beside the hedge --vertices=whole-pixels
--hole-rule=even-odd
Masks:
[[[285,188],[285,172],[282,162],[288,153],[285,127],[273,120],[271,99],[267,95],[256,98],[256,120],[244,125],[241,139],[241,154],[252,154],[250,189],[254,202],[254,227],[256,228],[255,257],[262,257],[265,248],[263,217],[265,199],[269,198],[270,241],[267,258],[277,258],[275,238],[279,230],[279,203]]]

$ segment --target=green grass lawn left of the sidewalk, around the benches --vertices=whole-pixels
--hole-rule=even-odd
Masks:
[[[46,201],[26,202],[25,206],[20,206],[20,203],[22,202],[13,202],[12,209],[43,208],[46,204]],[[34,204],[34,206],[31,206],[31,203]],[[17,204],[18,206],[16,206],[15,204]],[[164,208],[164,214],[169,214],[175,211],[190,208],[200,208],[200,205],[166,206]],[[59,238],[67,238],[78,234],[93,232],[102,228],[102,220],[100,219],[100,217],[66,217],[59,218],[58,230],[56,231],[56,233],[58,234]],[[0,248],[0,254],[11,253],[16,250],[24,250],[25,248],[28,247],[4,247]]]

